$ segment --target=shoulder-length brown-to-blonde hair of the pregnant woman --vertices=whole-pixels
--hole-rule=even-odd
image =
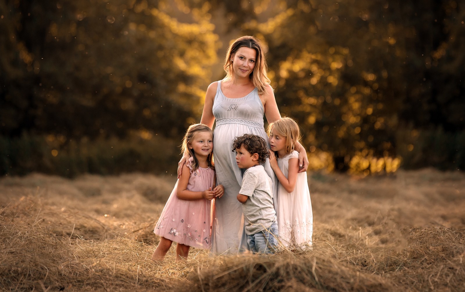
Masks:
[[[226,72],[224,80],[226,81],[231,79],[233,75],[233,61],[231,61],[231,58],[241,47],[252,48],[255,52],[257,52],[255,67],[249,75],[249,78],[252,80],[253,85],[258,89],[259,95],[262,95],[265,92],[266,86],[269,85],[271,81],[267,76],[268,68],[266,66],[265,54],[263,53],[262,45],[260,41],[253,36],[242,36],[234,41],[227,49],[225,65],[223,66]]]

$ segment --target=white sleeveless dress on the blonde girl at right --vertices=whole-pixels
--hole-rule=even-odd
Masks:
[[[288,177],[289,159],[299,159],[299,153],[292,151],[278,158],[279,169]],[[297,182],[292,193],[278,183],[278,231],[279,240],[286,248],[305,250],[312,245],[313,214],[307,173],[297,174]]]

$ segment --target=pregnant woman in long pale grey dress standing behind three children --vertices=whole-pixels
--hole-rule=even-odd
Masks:
[[[206,91],[200,123],[212,128],[213,157],[218,184],[225,188],[223,197],[215,200],[213,218],[213,254],[238,254],[248,250],[242,207],[236,196],[242,182],[242,171],[236,164],[232,143],[235,137],[255,134],[265,138],[263,116],[274,122],[281,118],[270,80],[266,75],[266,61],[258,39],[243,36],[234,41],[226,52],[226,77],[211,83]],[[306,151],[298,145],[299,163],[308,166]],[[184,164],[182,159],[179,164]],[[275,183],[276,178],[267,160],[265,170]],[[276,208],[276,190],[273,203]]]

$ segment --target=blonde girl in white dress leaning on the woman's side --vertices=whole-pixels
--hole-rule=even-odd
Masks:
[[[272,122],[270,164],[278,178],[279,240],[286,247],[305,250],[312,245],[313,214],[307,173],[299,173],[299,153],[295,146],[300,139],[297,123],[289,117]]]

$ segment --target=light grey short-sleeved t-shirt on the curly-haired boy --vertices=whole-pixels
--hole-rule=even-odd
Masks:
[[[246,203],[242,204],[247,235],[265,230],[276,221],[272,182],[262,165],[246,170],[239,194],[249,197]]]

